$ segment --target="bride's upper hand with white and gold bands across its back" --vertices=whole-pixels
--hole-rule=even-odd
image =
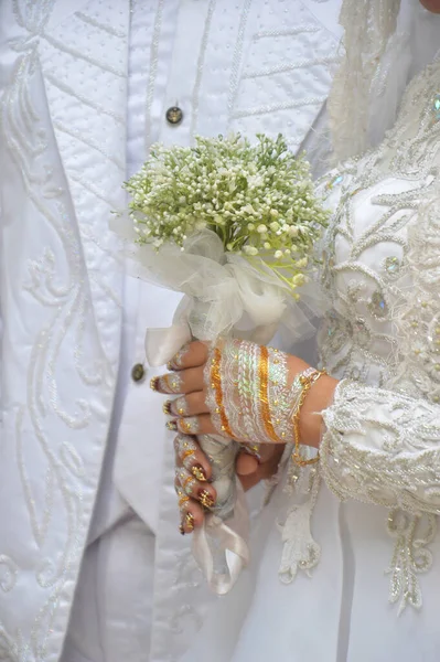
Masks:
[[[226,341],[212,349],[192,342],[169,369],[151,381],[159,393],[181,394],[164,403],[172,417],[169,429],[250,445],[293,442],[292,408],[301,391],[294,378],[310,369],[301,359],[251,342]],[[328,375],[311,385],[300,410],[302,444],[319,446],[321,417],[315,413],[326,408],[335,385]]]

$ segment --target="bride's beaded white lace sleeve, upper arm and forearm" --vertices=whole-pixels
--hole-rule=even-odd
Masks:
[[[396,372],[386,388],[343,380],[323,412],[323,474],[352,496],[440,514],[440,194],[408,228],[407,269],[394,310]],[[399,284],[398,284],[399,285]]]

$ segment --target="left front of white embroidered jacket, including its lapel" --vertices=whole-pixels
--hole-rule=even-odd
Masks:
[[[106,448],[128,23],[128,1],[0,3],[6,660],[60,658]]]

